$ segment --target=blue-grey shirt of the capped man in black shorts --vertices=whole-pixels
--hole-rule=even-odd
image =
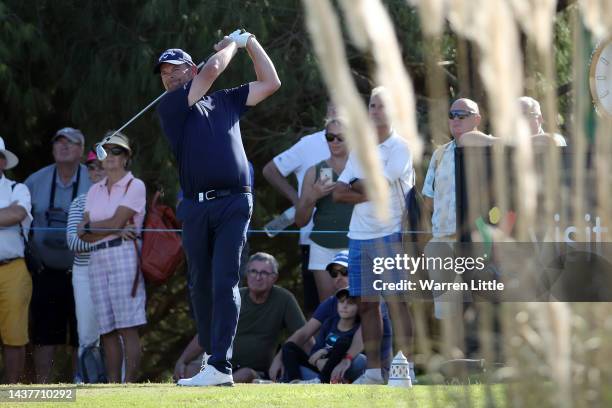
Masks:
[[[68,248],[66,242],[66,223],[68,221],[68,210],[72,200],[80,194],[87,193],[91,182],[87,174],[87,167],[79,166],[80,176],[74,173],[67,185],[64,185],[56,174],[55,197],[52,207],[55,210],[49,211],[51,199],[52,177],[55,164],[43,167],[36,173],[30,175],[25,181],[26,186],[32,195],[32,216],[34,221],[32,226],[35,228],[54,228],[48,231],[34,231],[31,244],[36,253],[41,257],[46,267],[53,269],[69,269],[72,267],[74,254]],[[74,186],[79,179],[76,195],[73,197]]]

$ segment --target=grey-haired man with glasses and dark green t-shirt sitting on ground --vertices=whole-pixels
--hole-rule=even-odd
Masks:
[[[240,289],[242,305],[232,357],[234,381],[240,383],[267,378],[282,332],[293,333],[306,323],[295,297],[274,285],[278,279],[278,263],[272,255],[253,254],[247,263],[246,275],[247,287]],[[202,369],[197,359],[202,351],[196,336],[174,369],[181,385],[197,385],[189,377]]]

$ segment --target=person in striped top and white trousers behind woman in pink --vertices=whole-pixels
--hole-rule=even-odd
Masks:
[[[95,184],[105,176],[102,162],[98,160],[96,154],[90,151],[85,160],[89,181]],[[89,347],[99,343],[100,333],[94,305],[91,301],[91,290],[89,285],[89,251],[92,244],[81,240],[77,235],[77,226],[83,220],[85,213],[85,202],[87,194],[81,194],[70,204],[68,211],[68,226],[66,228],[66,240],[68,247],[74,252],[74,263],[72,266],[72,288],[74,290],[74,305],[77,318],[77,332],[79,336],[79,362],[83,358],[83,353]],[[79,364],[81,368],[82,364]],[[83,373],[77,374],[77,382],[84,380]],[[91,380],[91,379],[90,379]]]

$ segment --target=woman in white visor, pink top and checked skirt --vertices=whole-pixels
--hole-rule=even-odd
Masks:
[[[141,357],[138,326],[146,323],[146,316],[144,281],[129,231],[140,233],[146,190],[128,170],[133,151],[127,136],[105,137],[102,147],[107,153],[102,162],[106,177],[87,194],[79,236],[93,243],[89,279],[108,380],[121,381],[125,360],[125,381],[134,382]]]

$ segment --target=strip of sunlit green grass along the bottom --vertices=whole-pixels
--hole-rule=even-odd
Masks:
[[[0,390],[8,388],[0,387]],[[358,385],[240,384],[184,388],[174,384],[90,385],[77,388],[76,403],[6,403],[2,407],[449,407],[487,406],[482,385],[417,385],[410,389]],[[495,406],[502,386],[490,388]],[[489,405],[490,406],[490,405]]]

